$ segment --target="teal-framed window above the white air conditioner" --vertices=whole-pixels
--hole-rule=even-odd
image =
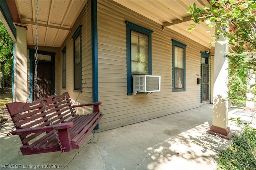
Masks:
[[[126,21],[127,94],[132,95],[132,75],[151,75],[151,34],[153,31]]]

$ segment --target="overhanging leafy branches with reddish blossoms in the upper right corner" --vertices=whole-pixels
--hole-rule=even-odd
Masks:
[[[190,6],[192,20],[196,24],[206,22],[211,28],[222,28],[226,26],[229,31],[217,32],[219,36],[230,39],[230,45],[241,47],[246,43],[247,50],[256,51],[256,1],[252,0],[210,0],[208,12],[198,8],[194,3]],[[192,32],[193,29],[188,29]]]

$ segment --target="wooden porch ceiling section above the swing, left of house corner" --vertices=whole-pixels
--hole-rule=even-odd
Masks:
[[[15,0],[15,4],[10,0],[6,2],[9,8],[16,5],[19,17],[14,22],[28,26],[28,45],[35,45],[36,0]],[[39,0],[38,45],[60,47],[85,4],[84,0]],[[12,11],[12,16],[14,13]]]

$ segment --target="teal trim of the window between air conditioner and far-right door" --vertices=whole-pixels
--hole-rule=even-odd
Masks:
[[[183,89],[175,89],[175,46],[181,47],[184,49],[184,88]],[[172,91],[186,91],[186,44],[178,42],[172,39]]]

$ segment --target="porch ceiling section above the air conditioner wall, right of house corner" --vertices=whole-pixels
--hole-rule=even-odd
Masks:
[[[188,37],[206,47],[214,40],[214,32],[207,32],[209,27],[206,24],[196,26],[196,29],[190,33],[187,28],[194,23],[191,15],[187,14],[189,6],[196,3],[196,6],[202,7],[210,4],[207,0],[114,0],[115,2],[137,12],[164,28],[170,28],[180,34]]]

